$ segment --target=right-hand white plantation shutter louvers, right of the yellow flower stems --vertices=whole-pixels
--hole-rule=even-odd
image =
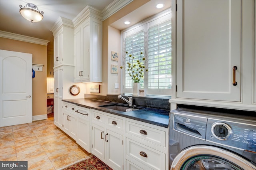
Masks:
[[[171,20],[148,29],[148,89],[171,89]]]

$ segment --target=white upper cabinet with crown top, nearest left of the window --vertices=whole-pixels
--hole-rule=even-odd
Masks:
[[[102,19],[85,9],[74,20],[75,82],[102,82]]]

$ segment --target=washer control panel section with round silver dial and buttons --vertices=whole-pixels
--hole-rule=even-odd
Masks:
[[[256,152],[256,125],[208,118],[206,140]]]

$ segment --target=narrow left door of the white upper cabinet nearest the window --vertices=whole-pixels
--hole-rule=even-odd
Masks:
[[[81,28],[75,30],[75,82],[81,81]]]

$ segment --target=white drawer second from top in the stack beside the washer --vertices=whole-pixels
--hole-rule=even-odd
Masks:
[[[154,170],[165,170],[165,154],[126,138],[126,154]]]

